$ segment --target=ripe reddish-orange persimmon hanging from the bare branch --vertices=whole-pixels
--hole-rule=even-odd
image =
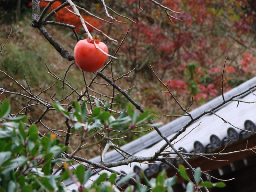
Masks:
[[[106,53],[108,47],[103,42],[96,42],[97,45]],[[108,56],[96,49],[95,45],[83,39],[76,43],[74,57],[78,67],[86,72],[93,72],[100,69],[106,62]]]

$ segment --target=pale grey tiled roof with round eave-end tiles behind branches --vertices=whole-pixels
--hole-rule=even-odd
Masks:
[[[224,94],[224,98],[228,99],[233,95],[239,94],[247,90],[249,87],[255,84],[256,77],[226,92]],[[256,91],[254,92],[254,94],[256,94]],[[247,92],[247,94],[243,94],[237,97],[236,100],[239,98],[239,100],[243,100],[245,102],[253,102],[256,101],[256,96],[254,94],[251,92],[249,92],[248,94]],[[222,101],[222,96],[219,96],[216,99],[204,104],[203,106],[196,108],[190,113],[193,117],[198,116],[202,112],[217,106]],[[183,132],[180,136],[178,136],[178,138],[176,139],[176,141],[178,141],[177,143],[175,143],[175,140],[172,142],[172,144],[175,143],[174,147],[176,149],[183,149],[183,152],[194,152],[196,149],[197,153],[207,153],[212,152],[216,148],[220,148],[223,145],[226,145],[231,138],[233,138],[232,142],[234,142],[239,139],[249,137],[252,134],[236,129],[232,125],[240,129],[255,131],[256,103],[238,103],[237,101],[231,101],[215,111],[215,114],[222,117],[227,122],[224,122],[221,118],[214,114],[203,116],[199,120],[188,126],[186,132]],[[180,130],[189,120],[190,118],[188,116],[179,117],[174,121],[162,126],[160,130],[168,139],[171,139],[172,136],[178,130]],[[190,133],[186,135],[188,132]],[[129,153],[134,154],[134,156],[146,157],[154,155],[156,150],[161,148],[164,144],[165,141],[162,140],[162,138],[156,133],[156,131],[153,131],[140,137],[137,140],[132,141],[131,143],[122,146],[121,148]],[[170,151],[170,148],[167,148],[165,151]],[[177,157],[176,154],[172,154],[170,156]],[[105,162],[114,162],[122,159],[123,157],[115,150],[113,150],[106,154]],[[91,161],[100,162],[100,157],[98,156],[92,158]],[[173,164],[181,163],[179,160],[175,160],[175,162],[174,160],[170,161],[172,161]],[[161,162],[154,163],[156,164],[131,163],[129,165],[114,167],[112,169],[119,172],[124,172],[125,174],[138,172],[140,171],[140,169],[142,169],[146,175],[150,176],[158,172],[161,167],[166,168],[166,165]],[[97,176],[95,175],[93,177]],[[69,188],[72,189],[72,186],[73,185],[71,185]]]

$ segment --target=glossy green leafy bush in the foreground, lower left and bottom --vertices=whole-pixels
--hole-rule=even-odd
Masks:
[[[99,127],[102,124],[107,124],[108,127],[116,127],[119,129],[128,128],[126,126],[120,126],[120,124],[126,124],[131,122],[133,125],[139,124],[145,119],[152,118],[148,116],[148,112],[138,116],[136,113],[131,114],[131,107],[128,110],[130,116],[125,116],[124,112],[115,119],[108,112],[102,112],[100,108],[95,108],[92,113],[91,120],[88,120],[86,124],[83,124],[85,119],[85,104],[82,104],[82,108],[76,102],[73,103],[75,110],[72,114],[65,110],[62,110],[59,104],[55,104],[55,107],[61,111],[68,118],[72,118],[76,121],[74,128],[79,129],[83,127],[84,131],[89,131],[94,127]],[[91,169],[85,171],[84,165],[79,165],[76,170],[71,173],[68,169],[68,163],[72,160],[62,155],[62,152],[68,149],[60,145],[60,141],[55,139],[55,135],[44,135],[39,137],[36,125],[27,126],[24,122],[28,120],[27,116],[19,117],[7,117],[10,112],[9,101],[5,100],[0,106],[0,192],[32,192],[32,191],[68,191],[64,186],[63,180],[72,177],[72,180],[77,184],[78,191],[108,191],[114,192],[118,189],[114,186],[120,185],[129,180],[133,175],[127,175],[120,179],[116,183],[116,173],[112,173],[108,176],[107,173],[102,173],[97,180],[95,180],[89,188],[84,188],[84,185],[91,176]],[[111,118],[109,118],[111,117]],[[109,121],[111,119],[111,121]],[[94,123],[92,123],[94,120]],[[62,163],[57,170],[53,170],[53,166],[56,163]],[[59,175],[60,170],[63,172]],[[184,168],[179,166],[180,175],[188,180],[187,192],[196,191],[202,187],[224,187],[222,182],[212,184],[211,182],[201,182],[201,170],[196,169],[195,182],[193,184]],[[76,175],[76,178],[73,177]],[[161,172],[156,178],[148,180],[141,171],[141,176],[147,183],[147,186],[140,184],[139,177],[136,177],[137,187],[128,186],[126,192],[146,192],[149,189],[152,192],[168,191],[172,192],[172,185],[177,181],[177,177],[168,178],[165,171]]]

